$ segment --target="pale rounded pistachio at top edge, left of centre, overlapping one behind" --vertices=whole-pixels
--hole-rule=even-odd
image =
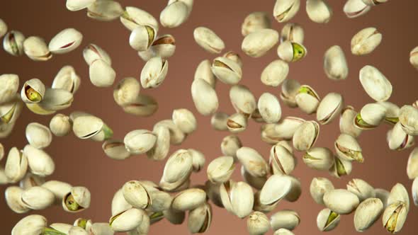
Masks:
[[[173,1],[160,13],[159,22],[165,28],[176,28],[187,20],[188,13],[188,6],[183,1]]]

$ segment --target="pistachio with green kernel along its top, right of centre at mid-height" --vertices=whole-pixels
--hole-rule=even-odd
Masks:
[[[317,111],[321,99],[312,87],[302,85],[299,87],[298,92],[295,95],[295,101],[300,110],[304,113],[312,114]]]

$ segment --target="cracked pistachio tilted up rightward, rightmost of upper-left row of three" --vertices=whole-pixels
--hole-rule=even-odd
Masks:
[[[83,35],[74,28],[66,28],[50,40],[48,48],[53,54],[64,54],[77,49],[83,40]]]

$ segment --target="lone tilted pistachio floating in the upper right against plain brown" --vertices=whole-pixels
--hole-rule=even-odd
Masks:
[[[351,53],[353,55],[368,55],[380,45],[381,41],[382,34],[376,28],[364,28],[351,38]]]

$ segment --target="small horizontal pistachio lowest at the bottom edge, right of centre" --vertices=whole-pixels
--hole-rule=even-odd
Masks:
[[[293,210],[281,210],[271,215],[270,224],[273,231],[282,228],[293,230],[300,224],[300,216]]]

